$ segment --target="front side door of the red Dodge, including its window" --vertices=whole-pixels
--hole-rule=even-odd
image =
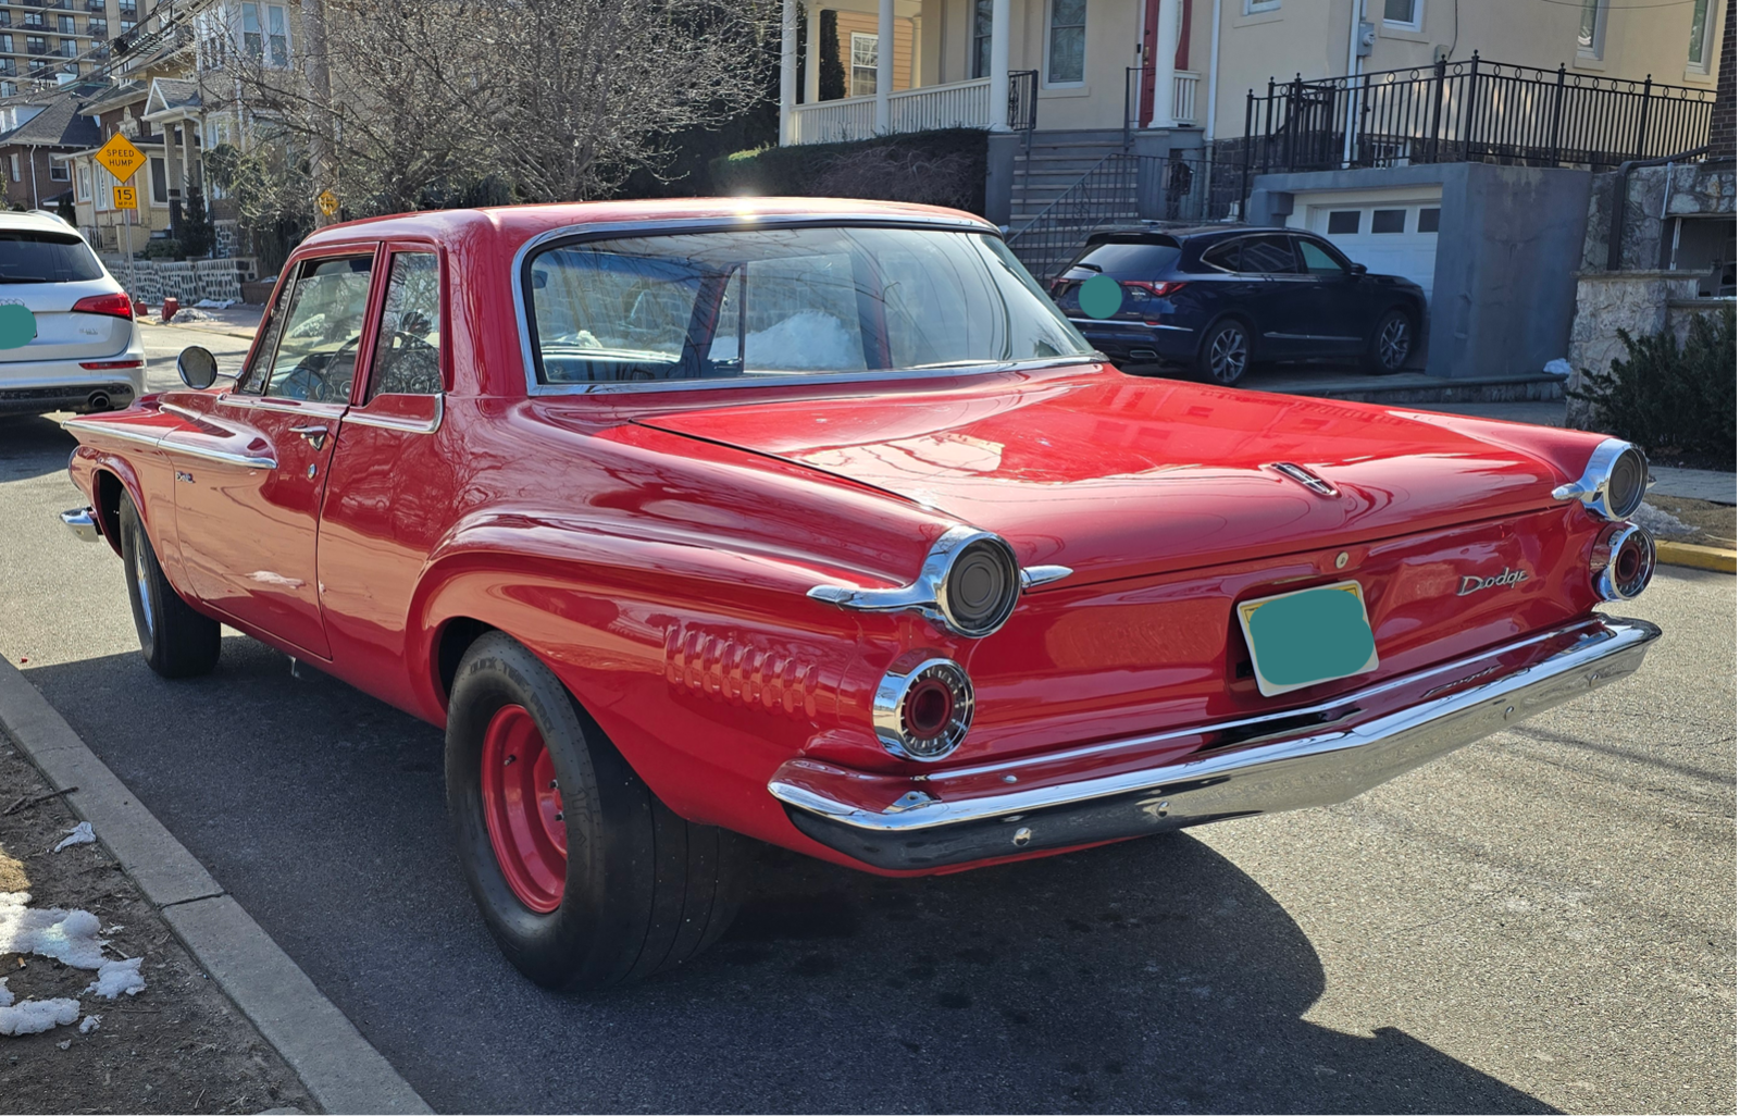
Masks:
[[[193,594],[318,658],[329,658],[315,569],[320,500],[367,343],[376,251],[298,261],[235,390],[164,440]]]

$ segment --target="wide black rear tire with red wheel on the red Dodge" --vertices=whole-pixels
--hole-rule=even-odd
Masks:
[[[501,632],[478,637],[454,679],[447,813],[489,933],[545,987],[675,968],[736,918],[743,839],[672,813]]]

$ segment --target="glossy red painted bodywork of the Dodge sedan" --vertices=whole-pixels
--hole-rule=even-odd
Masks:
[[[677,813],[830,860],[842,858],[802,837],[766,783],[797,759],[870,782],[917,771],[870,733],[875,681],[903,651],[950,655],[976,686],[973,729],[924,768],[936,773],[1312,705],[1596,602],[1587,564],[1601,524],[1550,496],[1599,440],[1580,432],[1101,366],[527,397],[510,275],[527,239],[745,207],[912,212],[646,202],[334,226],[296,259],[388,242],[444,252],[449,392],[433,434],[355,421],[432,416],[426,399],[360,404],[365,336],[355,395],[325,409],[320,451],[287,434],[306,414],[177,390],[82,427],[71,474],[99,514],[99,475],[141,505],[167,576],[197,608],[435,724],[444,632],[505,630]],[[371,317],[386,268],[374,275]],[[150,447],[92,427],[169,437]],[[278,468],[212,465],[183,446],[270,446]],[[1272,461],[1305,465],[1340,496],[1308,493]],[[823,582],[905,583],[957,522],[1075,575],[1023,597],[981,641],[804,595]],[[1462,576],[1505,566],[1529,578],[1456,595]],[[1262,698],[1241,676],[1234,602],[1347,578],[1364,588],[1378,672]]]

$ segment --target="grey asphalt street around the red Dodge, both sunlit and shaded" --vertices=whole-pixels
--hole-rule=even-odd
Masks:
[[[694,966],[576,998],[473,912],[440,733],[240,635],[144,667],[70,449],[0,420],[0,655],[438,1109],[1735,1107],[1731,576],[1663,569],[1639,676],[1345,806],[924,881],[767,850]]]

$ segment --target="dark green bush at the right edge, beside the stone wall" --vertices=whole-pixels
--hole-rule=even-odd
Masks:
[[[1735,460],[1735,308],[1691,319],[1684,346],[1672,327],[1632,338],[1625,360],[1606,373],[1583,369],[1587,390],[1571,395],[1594,407],[1596,425],[1667,454]]]

